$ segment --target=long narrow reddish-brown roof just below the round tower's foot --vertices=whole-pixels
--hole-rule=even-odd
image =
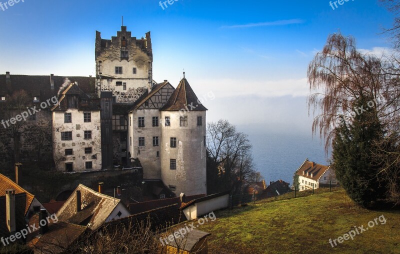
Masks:
[[[191,196],[186,196],[185,201],[189,202],[193,199],[200,198],[205,196],[205,194],[198,194],[198,195],[191,195]],[[137,214],[149,210],[153,210],[159,207],[171,205],[171,204],[181,204],[180,202],[180,197],[172,197],[172,198],[164,198],[164,199],[157,199],[157,200],[152,200],[152,201],[146,201],[146,202],[138,202],[138,203],[130,203],[128,204],[128,208],[130,213],[132,214]]]

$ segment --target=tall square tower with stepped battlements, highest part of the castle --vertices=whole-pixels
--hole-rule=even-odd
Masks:
[[[116,36],[102,39],[96,31],[95,60],[96,91],[112,91],[114,102],[133,103],[153,85],[150,32],[136,39],[121,26]]]

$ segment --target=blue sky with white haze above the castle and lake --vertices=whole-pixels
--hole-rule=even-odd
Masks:
[[[5,0],[0,0],[4,2]],[[0,8],[0,73],[94,75],[94,38],[124,25],[151,31],[153,74],[177,85],[183,68],[208,119],[309,130],[307,64],[328,34],[353,35],[363,50],[389,50],[392,14],[378,0],[332,9],[327,0],[24,0]]]

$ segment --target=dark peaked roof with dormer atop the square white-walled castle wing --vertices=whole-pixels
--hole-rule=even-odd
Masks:
[[[76,83],[69,84],[60,94],[58,98],[58,104],[51,108],[51,111],[65,111],[68,109],[66,97],[68,95],[77,95],[79,98],[78,109],[79,110],[90,110],[97,111],[100,107],[93,103],[93,101],[80,89]],[[82,103],[85,100],[86,103]]]

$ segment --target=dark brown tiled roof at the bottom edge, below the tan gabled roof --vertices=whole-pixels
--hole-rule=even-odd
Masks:
[[[73,244],[85,230],[85,226],[68,222],[50,223],[47,232],[32,238],[27,245],[34,249],[34,253],[65,253],[65,248]]]

